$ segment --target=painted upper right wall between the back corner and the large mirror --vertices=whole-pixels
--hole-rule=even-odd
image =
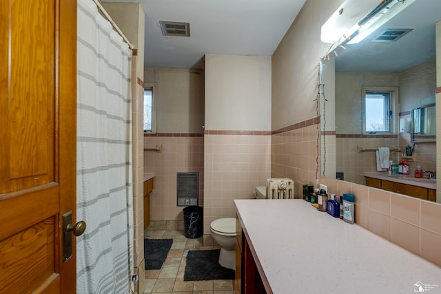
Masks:
[[[329,46],[320,29],[342,2],[308,0],[274,52],[271,129],[316,117],[318,58]]]

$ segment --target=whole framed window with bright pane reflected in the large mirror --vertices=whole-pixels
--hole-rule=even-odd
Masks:
[[[393,113],[397,108],[398,89],[393,87],[363,88],[363,133],[391,133],[396,128]]]

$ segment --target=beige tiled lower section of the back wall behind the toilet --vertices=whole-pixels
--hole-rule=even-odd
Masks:
[[[256,198],[270,176],[269,135],[205,134],[204,234],[216,218],[236,216],[234,199]]]

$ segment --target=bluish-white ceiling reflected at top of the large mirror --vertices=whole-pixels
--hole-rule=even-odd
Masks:
[[[417,0],[358,44],[336,58],[338,72],[401,72],[435,59],[435,23],[441,0]],[[371,42],[387,29],[413,29],[393,43]]]

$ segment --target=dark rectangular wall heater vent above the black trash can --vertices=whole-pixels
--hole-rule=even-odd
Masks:
[[[198,173],[177,173],[178,206],[198,205]]]

